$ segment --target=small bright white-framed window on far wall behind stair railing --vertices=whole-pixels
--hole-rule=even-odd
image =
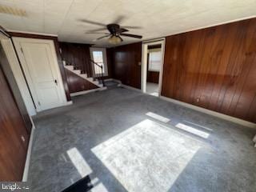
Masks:
[[[97,62],[98,65],[103,66],[101,68],[100,66],[97,66],[96,64],[93,63],[94,76],[99,76],[102,74],[102,72],[103,72],[103,75],[106,76],[107,75],[106,49],[91,47],[90,57],[94,62]]]

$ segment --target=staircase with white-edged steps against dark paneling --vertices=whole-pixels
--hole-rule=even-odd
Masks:
[[[91,78],[88,77],[86,73],[83,73],[83,70],[78,69],[79,66],[73,66],[72,64],[62,61],[63,66],[66,68],[66,70],[70,70],[72,73],[77,74],[79,77],[86,79],[86,81],[93,83],[95,86],[103,87],[104,82],[99,82],[98,78]]]

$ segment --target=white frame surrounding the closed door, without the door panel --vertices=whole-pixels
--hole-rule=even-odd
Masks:
[[[66,100],[66,94],[65,94],[65,90],[64,90],[64,86],[63,86],[63,82],[62,82],[62,76],[61,76],[61,72],[60,72],[60,69],[59,69],[59,66],[58,66],[58,58],[57,58],[57,55],[56,55],[56,50],[55,50],[55,46],[54,46],[54,41],[53,40],[50,40],[50,39],[38,39],[38,38],[20,38],[20,37],[14,37],[13,38],[14,40],[14,46],[15,46],[15,49],[17,50],[17,54],[18,54],[18,58],[20,59],[20,62],[22,64],[22,70],[24,71],[24,75],[26,77],[26,80],[28,82],[28,86],[31,90],[31,97],[33,98],[34,102],[35,103],[38,103],[38,97],[37,97],[37,93],[34,86],[32,86],[34,83],[33,83],[33,80],[31,79],[30,77],[30,72],[28,70],[28,66],[27,66],[27,63],[26,63],[26,59],[22,53],[22,46],[21,46],[21,43],[22,42],[28,42],[28,43],[44,43],[44,44],[48,44],[50,45],[50,52],[52,54],[52,57],[53,57],[53,67],[54,67],[54,70],[56,72],[56,75],[57,75],[57,78],[58,78],[58,85],[59,85],[59,89],[60,89],[60,96],[61,96],[61,104],[58,105],[58,106],[64,106],[66,103],[67,103],[67,100]],[[45,109],[42,109],[42,107],[38,107],[38,105],[36,104],[36,111],[39,112],[39,111],[42,111],[42,110],[45,110]],[[54,106],[54,107],[58,107],[58,106]],[[53,107],[53,108],[54,108]]]

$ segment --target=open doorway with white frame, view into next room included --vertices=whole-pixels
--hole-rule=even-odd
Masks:
[[[142,43],[142,92],[159,97],[165,39]]]

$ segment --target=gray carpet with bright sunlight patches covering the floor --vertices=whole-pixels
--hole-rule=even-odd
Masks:
[[[103,90],[34,122],[34,192],[86,175],[92,192],[256,191],[256,130],[154,96]]]

